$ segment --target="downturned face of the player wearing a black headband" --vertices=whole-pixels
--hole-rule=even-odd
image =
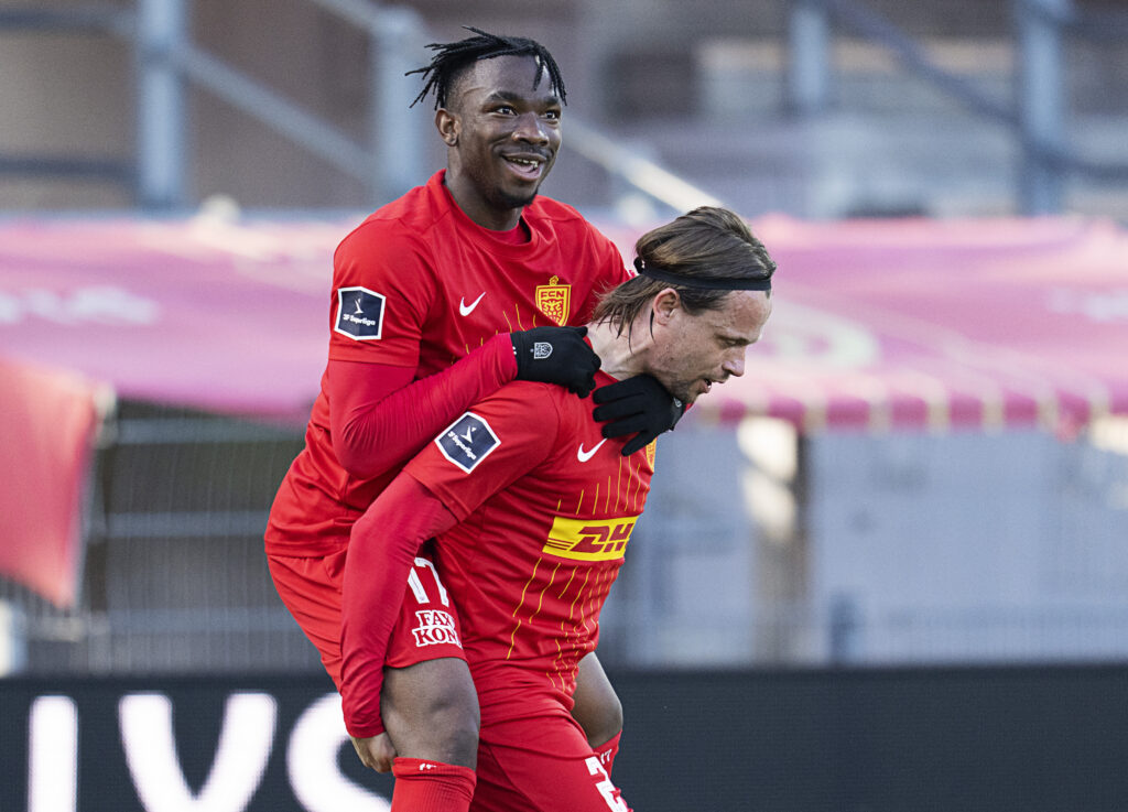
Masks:
[[[744,353],[770,315],[772,300],[761,291],[733,291],[719,310],[696,315],[676,306],[655,329],[647,371],[676,398],[693,403],[714,383],[744,373]]]

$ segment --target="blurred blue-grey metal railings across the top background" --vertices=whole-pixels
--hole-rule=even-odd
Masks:
[[[1011,103],[984,94],[973,82],[937,65],[911,36],[861,0],[796,0],[791,5],[788,47],[790,104],[818,114],[830,87],[828,48],[835,26],[887,48],[916,76],[958,99],[985,120],[1012,132],[1024,156],[1017,191],[1026,213],[1063,209],[1070,175],[1096,183],[1128,179],[1128,162],[1077,155],[1066,136],[1063,45],[1067,37],[1095,42],[1128,41],[1128,15],[1078,9],[1073,0],[1012,0],[1019,53]],[[411,103],[396,81],[414,67],[422,21],[407,9],[361,0],[309,0],[365,32],[374,47],[370,81],[370,125],[359,143],[265,85],[200,48],[188,35],[191,0],[138,0],[133,8],[88,5],[72,8],[0,9],[0,33],[87,33],[114,36],[133,47],[136,64],[136,145],[133,160],[107,156],[6,155],[0,174],[30,177],[86,177],[131,188],[138,205],[168,210],[186,203],[187,131],[185,85],[192,82],[256,117],[347,175],[360,179],[372,201],[388,200],[420,177],[418,117],[386,114]],[[408,55],[409,54],[409,55]],[[573,149],[616,177],[673,210],[715,202],[706,193],[636,155],[609,155],[611,143],[582,123],[570,130]],[[613,144],[614,147],[614,144]],[[614,152],[614,150],[613,150]]]

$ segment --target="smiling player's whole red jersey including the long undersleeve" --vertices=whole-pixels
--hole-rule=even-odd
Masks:
[[[474,223],[443,177],[337,248],[328,369],[271,510],[267,553],[342,549],[399,466],[513,378],[499,334],[587,324],[598,294],[629,276],[615,245],[570,206],[538,197],[521,215],[528,239],[514,244]]]

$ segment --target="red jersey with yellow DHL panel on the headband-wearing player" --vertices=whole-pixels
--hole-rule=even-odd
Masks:
[[[600,372],[597,382],[613,379]],[[654,445],[625,458],[626,441],[603,439],[589,399],[514,381],[474,405],[404,468],[459,522],[438,537],[435,564],[459,609],[483,724],[571,709],[579,662],[596,648],[600,609],[650,491]],[[380,498],[372,509],[379,515],[365,521],[385,528],[417,509],[391,501]],[[381,589],[377,579],[402,581],[390,571],[368,577],[373,594]],[[361,638],[378,635],[398,611],[378,600],[345,607],[358,635],[345,634],[346,663],[362,650],[368,663],[346,665],[350,730],[374,712],[378,692],[364,681],[379,678],[373,667],[384,661],[380,642]],[[352,681],[361,672],[369,676]]]

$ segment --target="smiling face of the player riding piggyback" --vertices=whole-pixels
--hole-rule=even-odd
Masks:
[[[561,102],[550,88],[531,56],[495,56],[472,64],[451,88],[449,108],[437,114],[451,148],[447,186],[479,226],[517,226],[552,169],[561,145]]]

